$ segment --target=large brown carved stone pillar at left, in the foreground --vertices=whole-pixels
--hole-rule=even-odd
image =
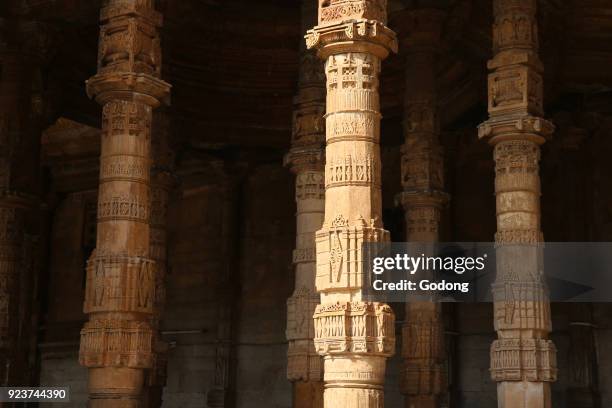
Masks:
[[[156,343],[151,121],[170,86],[160,79],[162,18],[153,0],[105,1],[100,21],[98,73],[87,81],[103,106],[98,228],[79,359],[89,368],[90,407],[140,407]]]

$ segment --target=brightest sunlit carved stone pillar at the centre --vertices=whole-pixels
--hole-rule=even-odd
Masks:
[[[320,0],[308,48],[327,76],[325,216],[316,233],[315,348],[324,357],[324,406],[384,405],[395,316],[362,297],[362,243],[389,240],[381,200],[378,76],[395,51],[384,0]]]

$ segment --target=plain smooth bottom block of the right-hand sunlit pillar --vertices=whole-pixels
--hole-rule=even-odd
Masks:
[[[497,384],[498,408],[551,408],[550,383],[504,381]]]

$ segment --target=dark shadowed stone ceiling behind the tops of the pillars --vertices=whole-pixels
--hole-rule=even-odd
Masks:
[[[57,116],[97,126],[100,109],[87,100],[84,81],[96,70],[100,1],[23,1],[27,14],[57,34],[47,72]],[[452,129],[486,117],[491,0],[394,0],[390,25],[401,31],[402,10],[432,5],[450,11],[438,76],[444,127]],[[173,85],[170,112],[179,143],[286,148],[303,34],[299,1],[161,0],[159,8],[165,16],[163,75]],[[607,95],[612,3],[540,0],[540,20],[547,105],[567,95]],[[384,64],[383,126],[401,118],[403,59]]]

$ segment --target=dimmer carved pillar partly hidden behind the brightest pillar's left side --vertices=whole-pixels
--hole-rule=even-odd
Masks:
[[[316,20],[316,3],[304,1],[302,19]],[[305,24],[303,24],[305,25]],[[295,174],[297,204],[295,291],[287,301],[287,378],[294,408],[323,407],[322,359],[314,346],[312,315],[319,303],[315,288],[315,233],[325,212],[325,73],[323,64],[303,50],[295,98],[291,150],[285,165]]]

